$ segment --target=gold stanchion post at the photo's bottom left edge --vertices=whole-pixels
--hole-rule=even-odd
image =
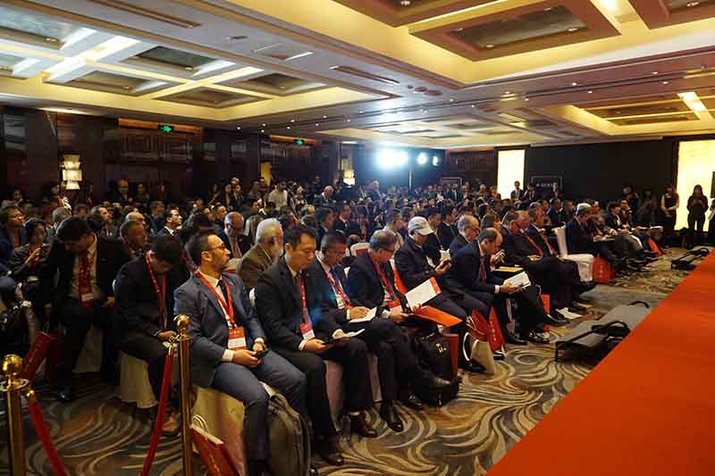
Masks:
[[[6,355],[3,374],[7,380],[0,386],[5,399],[7,413],[7,439],[10,442],[10,469],[13,476],[25,476],[25,439],[22,434],[21,392],[28,381],[20,378],[22,359],[17,355]]]

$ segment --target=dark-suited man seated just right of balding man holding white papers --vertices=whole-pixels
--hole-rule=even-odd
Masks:
[[[568,321],[557,309],[572,307],[582,289],[578,274],[571,272],[571,266],[556,256],[545,255],[542,248],[527,233],[530,225],[528,213],[509,213],[505,217],[509,227],[505,230],[503,249],[506,263],[516,264],[529,272],[535,284],[551,296],[551,317],[559,323]],[[551,323],[551,322],[547,322]]]

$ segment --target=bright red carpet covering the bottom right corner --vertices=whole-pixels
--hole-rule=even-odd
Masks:
[[[715,255],[489,476],[715,474]]]

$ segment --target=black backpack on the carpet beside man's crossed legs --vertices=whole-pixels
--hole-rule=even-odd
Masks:
[[[442,334],[433,330],[431,332],[418,331],[413,339],[415,355],[420,366],[434,375],[450,380],[451,385],[438,391],[427,391],[423,388],[414,388],[416,396],[430,405],[442,406],[452,398],[457,397],[459,380],[455,379],[452,371],[450,356],[450,343]]]

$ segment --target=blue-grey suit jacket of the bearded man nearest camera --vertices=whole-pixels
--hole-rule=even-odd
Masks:
[[[248,301],[248,293],[238,276],[224,273],[222,280],[228,285],[233,301],[233,318],[243,327],[248,348],[257,338],[265,339],[256,315]],[[191,340],[191,379],[201,387],[211,386],[216,367],[229,344],[229,326],[218,299],[194,274],[174,293],[174,314],[186,314]]]

